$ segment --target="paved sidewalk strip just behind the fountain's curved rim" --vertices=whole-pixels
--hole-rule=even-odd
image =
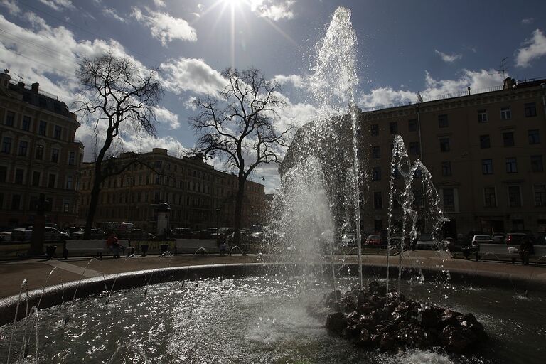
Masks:
[[[337,257],[338,262],[345,264],[357,263],[355,255],[349,257]],[[60,284],[61,282],[77,281],[80,277],[97,277],[102,274],[117,274],[124,272],[135,272],[146,269],[161,269],[168,267],[184,267],[200,264],[242,264],[256,262],[279,262],[278,257],[262,257],[255,255],[242,257],[240,255],[220,257],[218,255],[178,255],[170,257],[132,257],[102,260],[91,257],[62,259],[28,259],[16,262],[0,263],[0,298],[18,294],[21,282],[26,279],[28,290],[42,289],[47,281],[48,286]],[[381,255],[364,255],[363,265],[386,267],[387,257]],[[399,257],[390,257],[390,266],[398,265]],[[546,267],[544,265],[522,266],[510,264],[509,262],[474,262],[464,259],[453,259],[444,252],[413,251],[405,252],[402,256],[402,265],[415,269],[447,269],[456,272],[466,272],[471,275],[496,275],[498,277],[510,277],[521,280],[532,279],[533,282],[540,282],[542,287],[546,286]],[[86,269],[87,267],[87,269]],[[55,269],[50,275],[52,269]],[[85,271],[85,272],[84,272]],[[83,276],[82,276],[83,274]],[[49,279],[48,279],[49,277]]]

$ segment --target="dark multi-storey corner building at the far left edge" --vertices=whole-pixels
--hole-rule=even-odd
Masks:
[[[46,222],[74,223],[83,158],[78,127],[76,115],[38,83],[29,88],[0,73],[0,226],[32,223],[40,193]]]

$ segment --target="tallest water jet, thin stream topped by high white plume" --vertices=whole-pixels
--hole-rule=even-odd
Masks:
[[[356,34],[350,23],[350,10],[339,7],[332,16],[326,36],[316,44],[316,60],[311,68],[311,85],[316,105],[321,107],[319,119],[349,113],[353,132],[352,191],[356,245],[358,247],[358,277],[362,288],[362,254],[360,229],[360,164],[357,148],[358,109],[355,103]]]

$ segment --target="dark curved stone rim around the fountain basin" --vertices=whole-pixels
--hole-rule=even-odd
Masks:
[[[179,280],[196,280],[206,278],[218,278],[225,277],[230,279],[232,277],[242,277],[249,275],[259,275],[267,272],[267,269],[282,266],[304,266],[309,264],[304,263],[234,263],[234,264],[202,264],[191,265],[183,267],[165,267],[156,269],[143,269],[133,272],[124,272],[119,274],[105,274],[102,276],[90,277],[82,279],[81,282],[73,281],[65,284],[55,284],[45,289],[33,289],[28,291],[28,308],[29,311],[32,306],[38,304],[38,300],[43,291],[41,309],[47,309],[58,304],[63,304],[73,300],[75,291],[77,289],[76,299],[82,299],[88,296],[94,296],[97,294],[103,294],[105,291],[112,289],[113,291],[119,291],[122,289],[134,289],[138,287],[145,287],[147,284],[159,284],[164,282],[173,282]],[[315,266],[330,267],[329,264],[313,264]],[[357,272],[357,264],[353,263],[336,263],[338,266],[346,266],[347,270],[350,268],[350,272]],[[386,270],[382,265],[364,265],[363,272],[375,273],[378,269]],[[444,269],[436,267],[404,267],[405,272],[403,275],[407,277],[408,274],[414,271],[421,271],[425,276],[441,273]],[[397,267],[390,267],[391,277],[395,277],[397,274]],[[220,272],[218,272],[220,271]],[[347,273],[347,272],[346,272]],[[384,272],[382,272],[384,274]],[[546,290],[546,281],[539,279],[533,274],[532,277],[523,277],[521,274],[510,274],[507,272],[492,272],[492,271],[472,271],[469,269],[449,269],[449,275],[451,282],[463,283],[463,284],[478,284],[480,286],[489,287],[503,287],[503,288],[515,288],[521,287],[521,289],[527,290],[529,286],[533,288],[533,291],[542,289]],[[151,281],[150,277],[153,279]],[[144,278],[144,279],[143,279]],[[106,282],[106,283],[105,283]],[[106,284],[106,286],[105,286]],[[105,289],[107,288],[107,289]],[[16,306],[18,302],[18,294],[8,296],[0,299],[0,326],[4,326],[7,323],[13,323]],[[18,312],[18,319],[23,319],[26,316],[26,301],[24,298],[26,294],[21,295],[21,304]]]

